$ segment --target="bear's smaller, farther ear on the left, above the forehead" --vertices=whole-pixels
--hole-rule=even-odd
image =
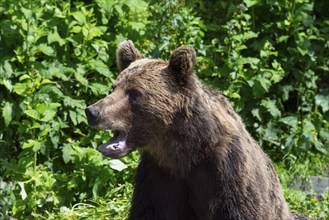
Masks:
[[[117,66],[120,71],[126,69],[132,62],[144,58],[131,40],[123,41],[117,49]]]

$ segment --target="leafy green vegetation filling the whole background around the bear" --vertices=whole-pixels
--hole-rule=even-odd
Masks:
[[[0,219],[123,219],[138,152],[96,147],[84,109],[111,91],[131,39],[168,59],[183,44],[276,164],[292,211],[328,219],[329,195],[287,188],[328,173],[327,0],[1,0]]]

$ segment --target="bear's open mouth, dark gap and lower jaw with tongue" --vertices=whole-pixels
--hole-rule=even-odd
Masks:
[[[127,133],[125,131],[113,130],[113,137],[109,142],[101,144],[98,150],[104,155],[112,158],[120,158],[129,154],[133,149],[127,145]]]

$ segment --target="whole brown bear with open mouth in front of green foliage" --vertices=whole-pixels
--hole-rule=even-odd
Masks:
[[[291,219],[271,160],[228,100],[193,74],[192,48],[166,62],[124,41],[117,64],[113,92],[86,114],[113,131],[99,147],[105,156],[141,152],[128,219]]]

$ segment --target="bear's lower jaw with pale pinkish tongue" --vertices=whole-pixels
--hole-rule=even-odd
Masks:
[[[120,134],[112,138],[108,143],[101,144],[98,150],[104,154],[104,156],[116,157],[124,153],[126,148],[126,135]]]

